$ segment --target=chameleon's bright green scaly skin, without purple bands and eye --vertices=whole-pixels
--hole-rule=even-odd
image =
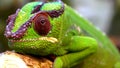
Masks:
[[[31,12],[40,3],[42,2],[28,3],[20,10],[12,32],[16,32],[24,22],[34,16]],[[59,2],[48,2],[41,10],[57,10],[61,6]],[[21,39],[15,40],[16,42],[9,39],[10,48],[20,53],[41,56],[54,54],[57,56],[54,68],[70,68],[79,63],[80,68],[119,67],[120,56],[114,45],[69,6],[65,5],[64,13],[59,17],[49,16],[49,21],[52,29],[46,36],[37,34],[32,24]]]

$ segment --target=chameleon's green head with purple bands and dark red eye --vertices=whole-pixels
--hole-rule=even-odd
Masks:
[[[59,44],[60,18],[64,4],[53,2],[32,2],[18,9],[8,17],[5,36],[9,46],[18,52],[47,55]]]

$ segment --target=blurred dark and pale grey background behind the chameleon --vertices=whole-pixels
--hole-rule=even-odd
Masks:
[[[37,0],[0,0],[0,52],[9,49],[4,36],[8,16],[13,14],[17,8],[32,1]],[[120,0],[63,1],[93,22],[120,48]]]

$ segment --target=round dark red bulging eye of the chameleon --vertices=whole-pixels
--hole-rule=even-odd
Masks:
[[[33,18],[34,30],[42,36],[49,33],[51,29],[50,21],[48,20],[48,15],[46,13],[38,13]]]

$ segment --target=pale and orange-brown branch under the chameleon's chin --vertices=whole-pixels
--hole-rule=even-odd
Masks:
[[[46,58],[36,58],[12,51],[0,54],[0,68],[52,68],[53,62]]]

